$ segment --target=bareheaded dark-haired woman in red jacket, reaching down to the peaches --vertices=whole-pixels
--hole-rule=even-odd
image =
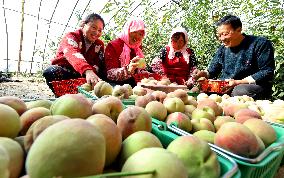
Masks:
[[[89,14],[81,28],[67,33],[60,42],[56,57],[43,72],[50,89],[52,81],[85,77],[87,83],[95,84],[103,60],[104,43],[99,39],[105,23],[98,14]]]

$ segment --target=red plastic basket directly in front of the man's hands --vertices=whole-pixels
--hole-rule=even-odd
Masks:
[[[218,94],[226,93],[227,89],[225,89],[224,87],[229,84],[228,81],[223,80],[201,80],[198,83],[202,92]]]

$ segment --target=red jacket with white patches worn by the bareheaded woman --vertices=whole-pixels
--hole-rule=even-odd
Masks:
[[[56,57],[51,60],[51,64],[73,67],[81,75],[86,70],[98,69],[103,58],[104,43],[96,40],[86,51],[86,44],[81,29],[67,33],[60,42]]]

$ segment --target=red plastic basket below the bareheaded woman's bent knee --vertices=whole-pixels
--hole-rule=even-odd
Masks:
[[[52,81],[52,86],[54,89],[54,94],[59,97],[65,94],[75,94],[78,93],[77,87],[86,83],[85,78],[69,79],[69,80],[59,80]]]

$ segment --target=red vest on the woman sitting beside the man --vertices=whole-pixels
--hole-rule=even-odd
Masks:
[[[183,85],[187,81],[190,74],[190,63],[185,61],[183,55],[180,53],[180,56],[175,56],[173,59],[169,59],[168,54],[170,47],[166,46],[167,54],[166,58],[163,60],[163,69],[166,76],[170,79],[171,82],[176,82],[179,85]],[[189,48],[186,49],[189,56],[192,54]]]

